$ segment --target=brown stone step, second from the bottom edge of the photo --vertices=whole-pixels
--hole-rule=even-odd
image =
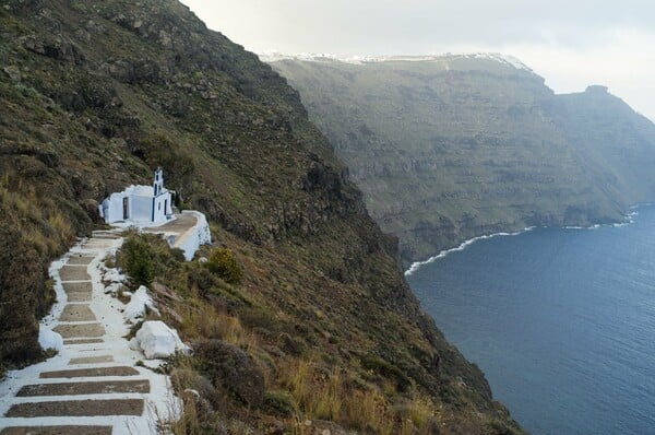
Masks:
[[[9,418],[141,415],[143,399],[62,400],[16,403],[7,411]]]

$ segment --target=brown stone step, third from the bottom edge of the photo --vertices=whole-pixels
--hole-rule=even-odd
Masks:
[[[147,379],[25,385],[16,397],[150,392]]]

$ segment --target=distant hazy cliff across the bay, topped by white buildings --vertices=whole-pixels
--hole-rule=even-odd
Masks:
[[[655,127],[600,86],[555,95],[500,58],[271,63],[335,145],[406,263],[655,198]]]

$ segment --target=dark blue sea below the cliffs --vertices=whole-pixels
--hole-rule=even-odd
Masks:
[[[478,240],[407,279],[534,434],[655,434],[655,207]]]

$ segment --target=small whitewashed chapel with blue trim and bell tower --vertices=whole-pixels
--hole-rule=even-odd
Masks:
[[[126,222],[138,226],[157,226],[174,219],[171,192],[164,187],[164,172],[155,171],[152,186],[130,186],[111,193],[99,207],[106,223]]]

